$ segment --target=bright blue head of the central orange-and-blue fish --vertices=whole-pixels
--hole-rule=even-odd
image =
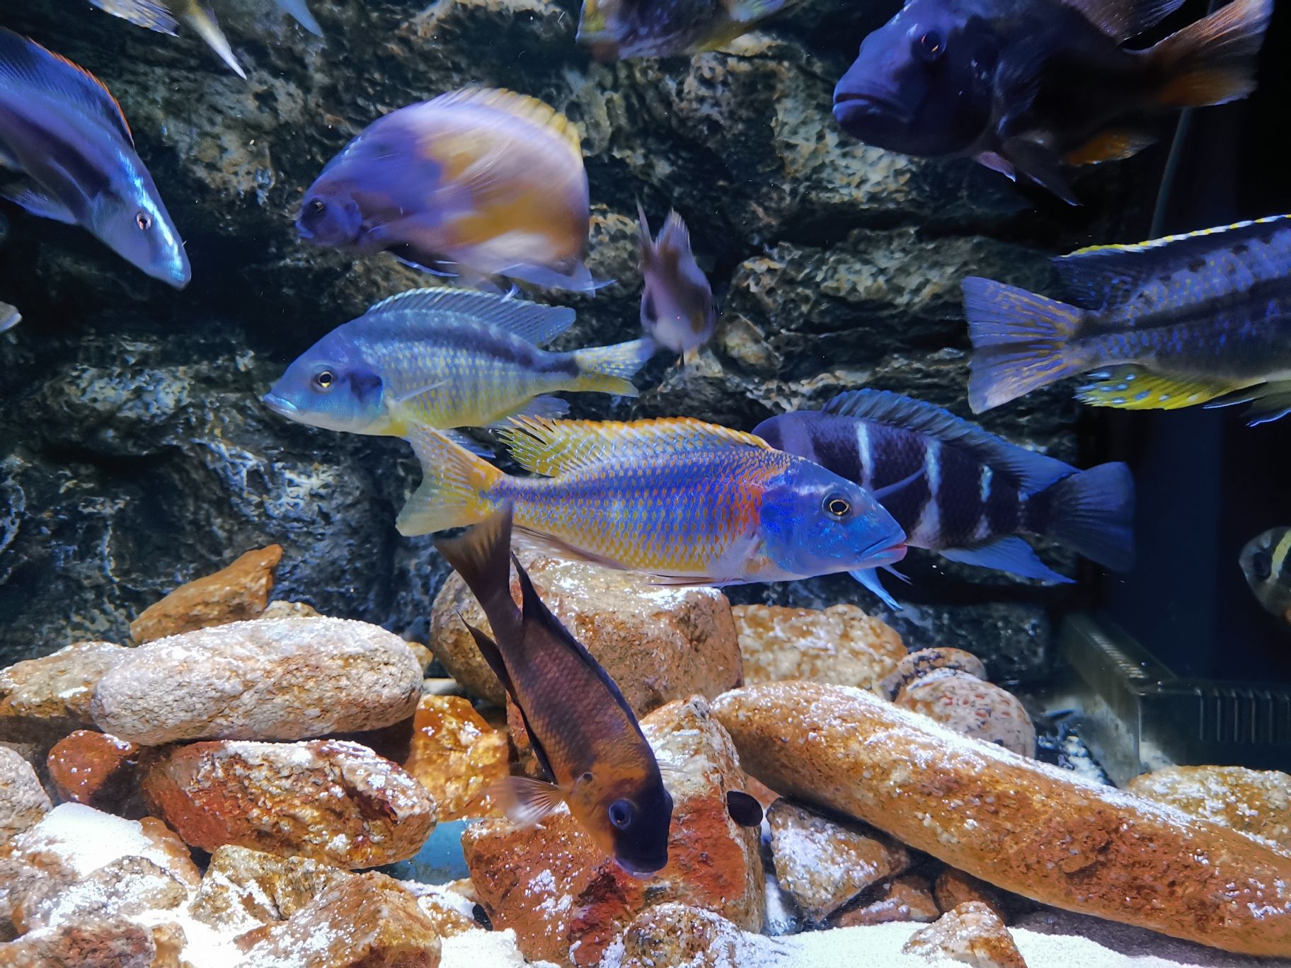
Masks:
[[[763,494],[762,538],[776,565],[802,577],[905,558],[905,532],[868,490],[802,458]]]

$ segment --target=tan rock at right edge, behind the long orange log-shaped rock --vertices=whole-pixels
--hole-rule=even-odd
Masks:
[[[1167,767],[1130,781],[1130,792],[1291,851],[1291,776],[1245,767]]]

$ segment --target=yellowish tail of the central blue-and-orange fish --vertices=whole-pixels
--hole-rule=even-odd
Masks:
[[[429,427],[414,427],[408,443],[421,462],[421,484],[395,520],[400,534],[430,534],[488,518],[494,503],[485,493],[502,480],[502,471]]]

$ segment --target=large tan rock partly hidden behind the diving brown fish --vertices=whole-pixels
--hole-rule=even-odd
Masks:
[[[740,645],[722,592],[544,556],[531,556],[525,568],[547,608],[604,666],[638,716],[741,681]],[[511,592],[519,599],[514,580]],[[463,689],[501,706],[502,687],[462,618],[488,630],[475,596],[453,573],[435,598],[427,645]]]

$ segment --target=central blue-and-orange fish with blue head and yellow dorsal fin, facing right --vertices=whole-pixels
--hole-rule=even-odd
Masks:
[[[522,467],[547,476],[507,476],[413,429],[422,483],[399,532],[473,524],[511,502],[516,529],[555,554],[669,585],[851,572],[871,586],[870,569],[905,555],[901,528],[868,492],[750,434],[689,418],[520,419],[502,438]]]

